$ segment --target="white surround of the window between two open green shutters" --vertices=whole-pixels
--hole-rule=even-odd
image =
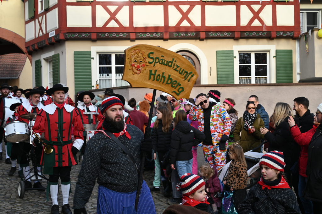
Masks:
[[[268,52],[267,83],[276,83],[275,45],[233,45],[234,83],[239,84],[239,52]],[[252,80],[253,81],[253,80]],[[255,83],[255,79],[254,79]]]

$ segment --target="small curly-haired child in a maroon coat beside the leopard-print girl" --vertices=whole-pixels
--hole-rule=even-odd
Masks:
[[[200,166],[200,175],[206,182],[206,192],[210,196],[214,203],[212,204],[213,211],[217,212],[218,207],[221,206],[221,198],[215,197],[217,192],[222,192],[223,187],[220,179],[218,178],[218,171],[216,167],[211,168],[209,163],[205,163]]]

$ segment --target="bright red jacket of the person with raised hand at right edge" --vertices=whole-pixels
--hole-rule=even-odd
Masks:
[[[302,147],[300,158],[298,160],[298,171],[303,177],[308,177],[306,175],[306,166],[308,163],[308,144],[311,142],[312,136],[314,135],[316,129],[317,125],[315,124],[313,125],[313,128],[304,133],[301,133],[300,128],[297,125],[290,128],[294,141]]]

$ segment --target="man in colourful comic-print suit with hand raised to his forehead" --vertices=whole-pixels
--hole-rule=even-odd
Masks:
[[[215,94],[218,99],[220,92]],[[200,107],[199,107],[200,105]],[[189,112],[190,120],[198,121],[198,129],[206,139],[202,143],[204,158],[211,167],[221,169],[226,164],[226,150],[232,121],[225,107],[209,102],[207,95],[198,94]]]

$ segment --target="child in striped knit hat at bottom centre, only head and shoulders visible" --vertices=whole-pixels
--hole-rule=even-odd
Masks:
[[[176,186],[177,191],[182,191],[181,205],[195,207],[202,211],[215,214],[210,203],[207,201],[207,193],[205,192],[206,183],[204,180],[194,174],[185,173],[181,178],[181,182]]]

